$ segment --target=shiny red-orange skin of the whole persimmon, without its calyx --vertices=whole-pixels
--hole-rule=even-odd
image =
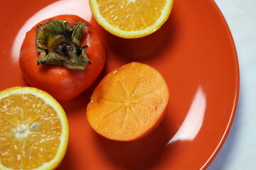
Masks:
[[[70,26],[79,21],[89,25],[83,28],[80,46],[89,46],[85,53],[91,64],[87,65],[85,71],[48,64],[37,65],[39,52],[36,50],[36,27],[49,19],[36,24],[26,33],[21,45],[19,65],[25,81],[30,86],[48,92],[58,101],[68,101],[87,90],[100,75],[105,65],[105,48],[97,30],[89,22],[74,15],[55,16],[51,19],[68,21]]]

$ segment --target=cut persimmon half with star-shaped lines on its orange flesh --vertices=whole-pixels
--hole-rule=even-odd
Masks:
[[[161,74],[147,64],[132,62],[100,81],[88,103],[87,120],[110,140],[139,140],[159,125],[168,101]]]

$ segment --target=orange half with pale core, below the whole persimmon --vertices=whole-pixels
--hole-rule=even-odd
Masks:
[[[55,169],[68,145],[65,111],[45,91],[0,91],[0,169]]]

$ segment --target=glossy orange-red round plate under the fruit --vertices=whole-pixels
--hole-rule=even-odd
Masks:
[[[17,47],[12,49],[14,39],[33,14],[52,3],[1,2],[0,90],[26,86],[17,56],[12,53],[18,51]],[[85,1],[73,11],[87,9]],[[56,8],[50,10],[56,12]],[[87,14],[91,15],[90,10]],[[205,169],[228,135],[239,89],[235,45],[214,1],[174,1],[164,26],[137,40],[114,37],[93,18],[90,22],[99,30],[107,49],[106,67],[98,81],[122,64],[144,62],[166,79],[169,108],[159,128],[144,139],[107,140],[90,128],[85,116],[95,82],[73,101],[61,102],[70,123],[70,143],[58,169]]]

